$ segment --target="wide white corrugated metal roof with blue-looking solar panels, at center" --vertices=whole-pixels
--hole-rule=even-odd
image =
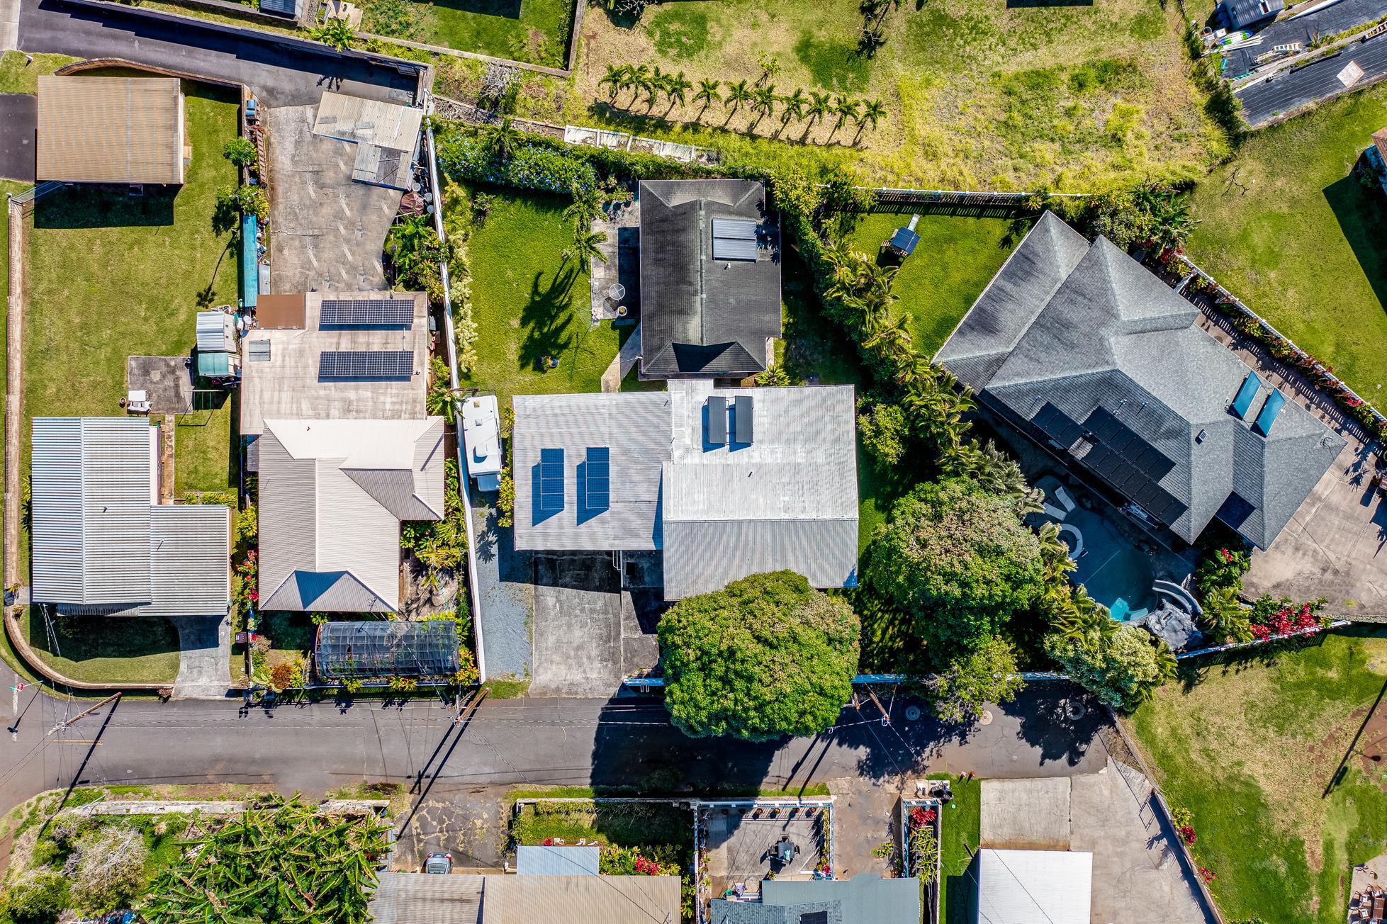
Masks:
[[[707,400],[753,402],[749,444],[705,441]],[[522,549],[664,549],[680,599],[779,569],[814,587],[857,583],[852,386],[517,395],[512,470]],[[612,499],[583,504],[587,450],[610,450]],[[563,506],[540,509],[541,451],[563,450]]]

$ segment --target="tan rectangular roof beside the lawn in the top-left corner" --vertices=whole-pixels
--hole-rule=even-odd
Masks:
[[[176,78],[39,78],[37,178],[67,183],[183,182]]]

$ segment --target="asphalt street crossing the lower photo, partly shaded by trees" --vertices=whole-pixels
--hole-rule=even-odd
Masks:
[[[908,723],[902,699],[896,721],[884,727],[868,703],[863,713],[845,709],[841,724],[816,738],[748,744],[687,738],[663,703],[627,698],[487,701],[462,727],[436,701],[266,712],[237,701],[129,699],[49,734],[89,702],[33,698],[31,687],[15,708],[4,690],[4,727],[15,713],[22,717],[18,734],[0,733],[0,813],[76,784],[243,782],[320,796],[352,782],[397,781],[422,799],[498,784],[759,787],[927,770],[1061,776],[1105,760],[1093,746],[1104,715],[1062,716],[1062,698],[1075,692],[1033,687],[990,724],[970,730]]]

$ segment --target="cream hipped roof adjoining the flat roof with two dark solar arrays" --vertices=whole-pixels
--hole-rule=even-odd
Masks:
[[[444,515],[442,418],[266,420],[261,609],[399,606],[399,523]]]

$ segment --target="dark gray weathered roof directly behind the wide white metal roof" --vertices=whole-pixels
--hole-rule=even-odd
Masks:
[[[739,379],[781,336],[779,232],[750,180],[641,183],[641,377]]]

